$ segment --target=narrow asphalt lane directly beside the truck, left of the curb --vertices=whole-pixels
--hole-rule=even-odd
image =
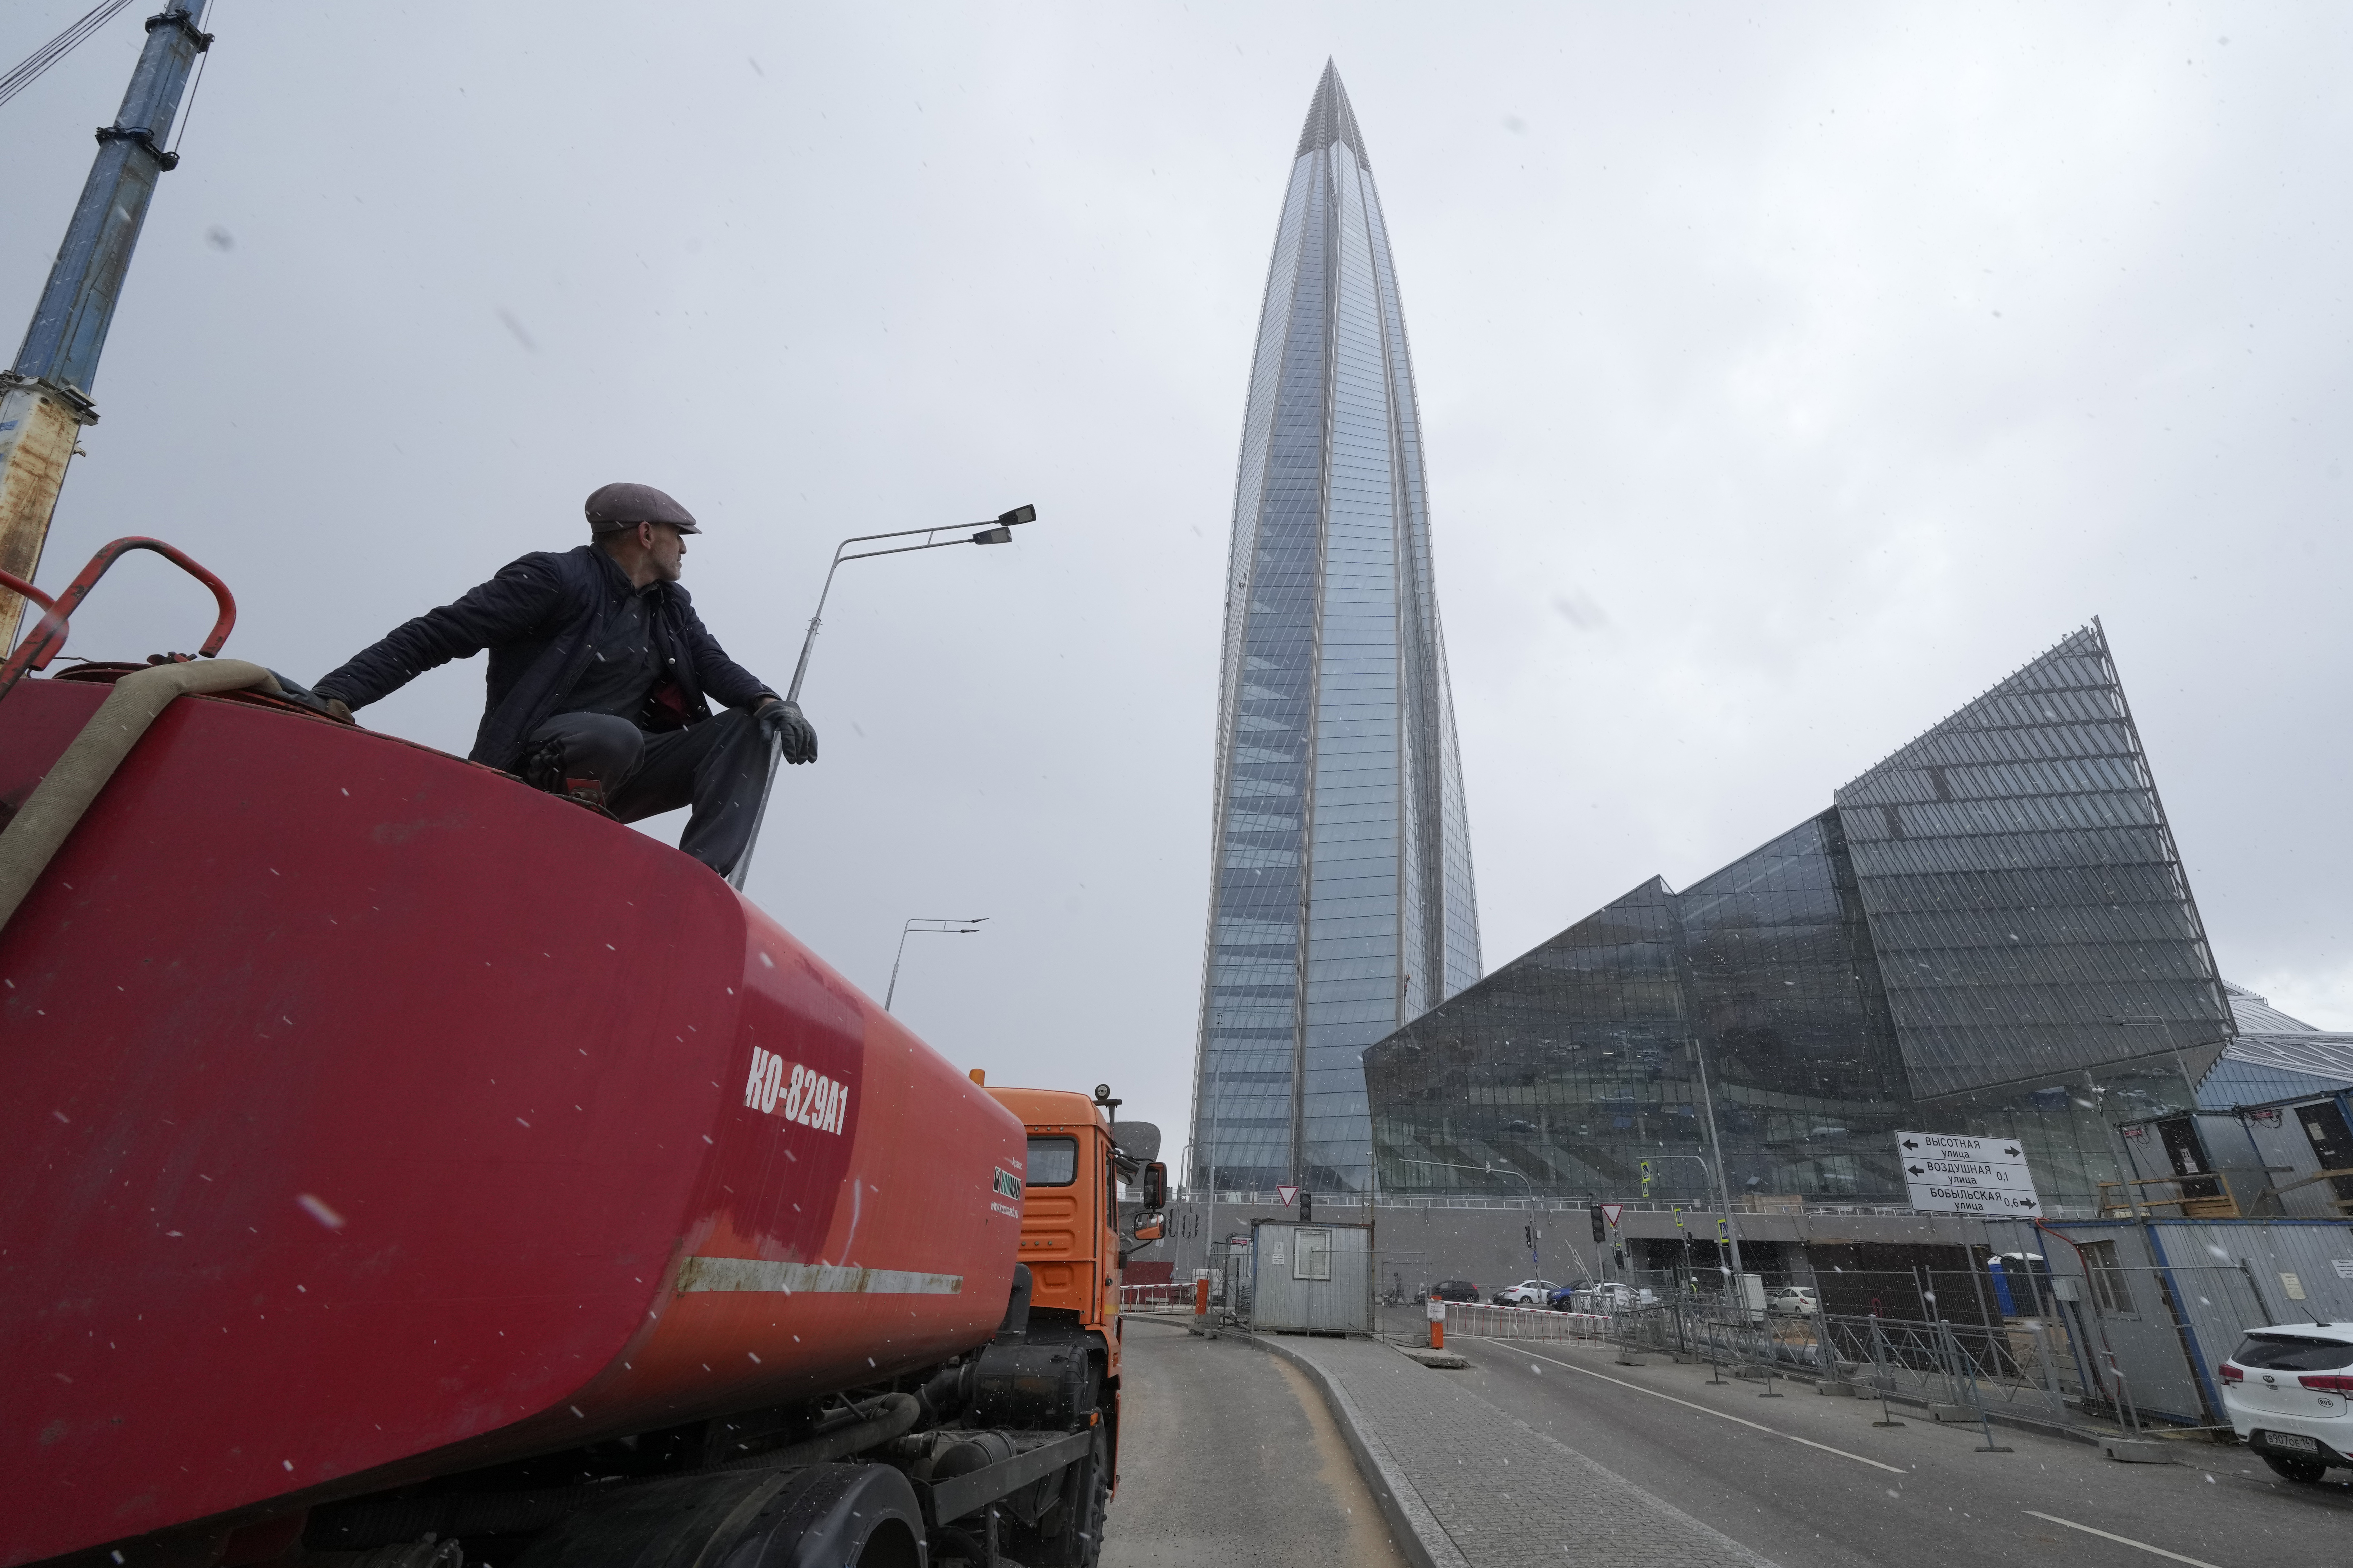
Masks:
[[[1235,1340],[1127,1319],[1104,1568],[1402,1568],[1322,1394]]]

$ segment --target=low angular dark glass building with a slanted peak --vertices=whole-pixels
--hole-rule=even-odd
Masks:
[[[1384,1190],[1901,1204],[1894,1128],[2082,1211],[2233,1039],[2094,621],[1685,891],[1652,879],[1367,1058]],[[1701,1084],[1706,1070],[1706,1086]]]

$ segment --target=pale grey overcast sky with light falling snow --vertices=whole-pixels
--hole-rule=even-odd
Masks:
[[[87,0],[14,0],[0,66]],[[0,331],[141,33],[0,108]],[[791,675],[753,896],[1184,1140],[1259,292],[1325,56],[1414,346],[1487,966],[2094,614],[2224,973],[2353,1027],[2353,9],[292,5],[219,35],[42,564],[318,677],[642,480]],[[14,317],[5,313],[14,310]],[[14,339],[9,339],[14,343]],[[191,646],[132,559],[78,654]],[[367,710],[464,750],[480,661]],[[675,823],[668,823],[675,835]]]

